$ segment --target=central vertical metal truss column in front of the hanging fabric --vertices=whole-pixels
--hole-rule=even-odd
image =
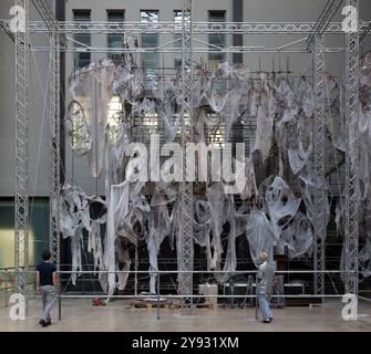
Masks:
[[[193,295],[193,183],[187,181],[187,143],[193,142],[193,20],[192,0],[183,0],[182,18],[182,147],[184,174],[181,183],[181,235],[179,235],[179,293],[185,305],[192,306]],[[188,155],[189,156],[189,155]]]

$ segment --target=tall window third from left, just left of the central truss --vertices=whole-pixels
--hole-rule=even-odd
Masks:
[[[158,22],[157,10],[141,10],[142,23],[156,23]],[[142,34],[142,48],[156,48],[158,46],[158,33],[144,33]],[[159,54],[156,51],[142,54],[142,67],[146,82],[155,79],[158,75]]]

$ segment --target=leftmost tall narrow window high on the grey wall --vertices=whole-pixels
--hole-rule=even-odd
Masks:
[[[90,21],[90,10],[73,10],[73,19],[76,22]],[[91,45],[90,33],[74,34],[75,48],[81,48],[80,52],[74,54],[74,67],[79,69],[90,63],[90,50],[85,45]]]

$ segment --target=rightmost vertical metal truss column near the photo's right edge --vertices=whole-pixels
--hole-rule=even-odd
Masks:
[[[358,295],[358,114],[359,114],[359,0],[355,29],[346,33],[346,293]]]

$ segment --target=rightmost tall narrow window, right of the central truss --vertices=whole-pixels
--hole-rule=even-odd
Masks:
[[[209,22],[225,22],[226,21],[226,11],[208,11],[208,21]],[[218,48],[225,48],[226,44],[226,35],[219,33],[210,33],[208,35],[209,49],[216,50],[215,45]],[[226,60],[225,53],[209,53],[208,54],[208,70],[213,71],[217,69],[218,63],[224,62]]]

